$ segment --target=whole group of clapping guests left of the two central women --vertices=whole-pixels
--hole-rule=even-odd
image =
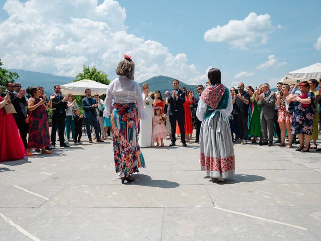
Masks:
[[[91,90],[86,89],[81,106],[84,113],[81,114],[71,93],[63,96],[60,85],[55,85],[53,90],[54,93],[47,97],[42,86],[24,89],[20,83],[6,84],[0,97],[0,162],[33,156],[34,152],[51,154],[50,150],[56,149],[57,133],[60,148],[69,147],[69,142],[82,144],[83,126],[89,143],[92,140],[104,142],[110,136],[110,119],[103,117],[105,105],[98,93],[92,96]],[[50,116],[48,108],[51,109]]]

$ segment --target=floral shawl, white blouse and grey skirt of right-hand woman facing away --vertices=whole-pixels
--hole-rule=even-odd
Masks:
[[[202,92],[196,115],[202,119],[200,163],[207,177],[234,175],[235,156],[228,120],[232,110],[231,94],[223,84],[211,85]]]

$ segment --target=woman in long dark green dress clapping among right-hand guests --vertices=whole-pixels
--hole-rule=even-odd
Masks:
[[[254,103],[254,106],[253,106],[253,111],[250,119],[248,134],[253,136],[252,143],[256,143],[256,139],[258,137],[260,138],[262,137],[261,120],[260,120],[261,108],[257,105],[258,96],[261,94],[261,92],[262,90],[260,86],[258,89],[254,91],[253,96],[251,97],[251,102]]]

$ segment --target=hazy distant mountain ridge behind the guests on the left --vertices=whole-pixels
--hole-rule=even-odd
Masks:
[[[57,76],[52,74],[45,74],[34,71],[27,71],[23,69],[9,69],[10,71],[17,72],[19,79],[16,82],[21,83],[23,88],[28,86],[43,86],[47,94],[54,93],[54,85],[56,84],[67,84],[72,82],[75,78]]]

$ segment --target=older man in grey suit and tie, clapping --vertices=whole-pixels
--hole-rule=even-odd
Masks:
[[[263,142],[260,146],[273,145],[273,124],[274,124],[274,105],[275,95],[270,90],[269,84],[262,84],[263,93],[258,96],[257,105],[261,107],[261,130]],[[267,138],[268,137],[268,138]]]

